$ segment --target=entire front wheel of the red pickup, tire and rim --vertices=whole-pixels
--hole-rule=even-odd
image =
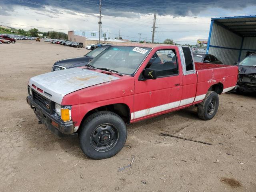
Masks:
[[[105,159],[116,155],[127,138],[124,121],[110,111],[90,115],[80,129],[80,147],[92,159]]]

